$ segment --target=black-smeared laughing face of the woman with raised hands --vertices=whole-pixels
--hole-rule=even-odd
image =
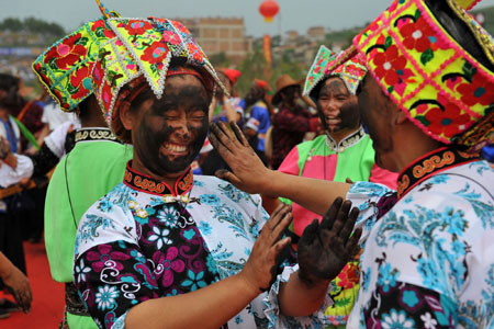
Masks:
[[[210,98],[197,77],[173,76],[160,100],[144,103],[133,129],[136,156],[158,177],[184,172],[207,135]]]

